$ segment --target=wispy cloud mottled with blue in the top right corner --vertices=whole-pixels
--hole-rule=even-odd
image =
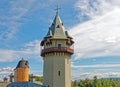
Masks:
[[[83,16],[96,18],[99,15],[104,15],[108,11],[112,11],[114,7],[120,7],[119,0],[77,0],[75,4],[79,11],[80,20]]]

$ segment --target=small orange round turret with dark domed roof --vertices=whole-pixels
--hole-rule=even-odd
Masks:
[[[14,70],[15,82],[27,82],[29,81],[29,63],[22,59],[19,61],[17,67]]]

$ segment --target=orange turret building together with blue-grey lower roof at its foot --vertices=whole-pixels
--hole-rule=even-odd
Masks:
[[[11,83],[7,87],[43,87],[40,84],[29,82],[29,63],[23,58],[19,61],[14,71],[14,76],[10,75]],[[13,77],[15,82],[13,82]]]

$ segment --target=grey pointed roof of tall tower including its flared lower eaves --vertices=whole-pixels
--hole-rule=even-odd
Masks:
[[[41,46],[44,45],[45,41],[48,41],[49,39],[70,39],[70,45],[74,43],[72,40],[73,38],[68,34],[68,32],[65,30],[65,27],[59,17],[58,11],[56,12],[56,16],[52,22],[51,27],[49,27],[49,31],[47,35],[44,37],[44,39],[41,41]],[[50,42],[50,40],[49,40]]]

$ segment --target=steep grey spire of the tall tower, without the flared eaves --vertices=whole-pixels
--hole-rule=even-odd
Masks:
[[[65,33],[65,28],[63,26],[63,23],[59,17],[58,11],[56,12],[56,16],[54,18],[54,21],[49,28],[48,34],[46,37],[52,36],[53,38],[67,38],[67,35]]]

